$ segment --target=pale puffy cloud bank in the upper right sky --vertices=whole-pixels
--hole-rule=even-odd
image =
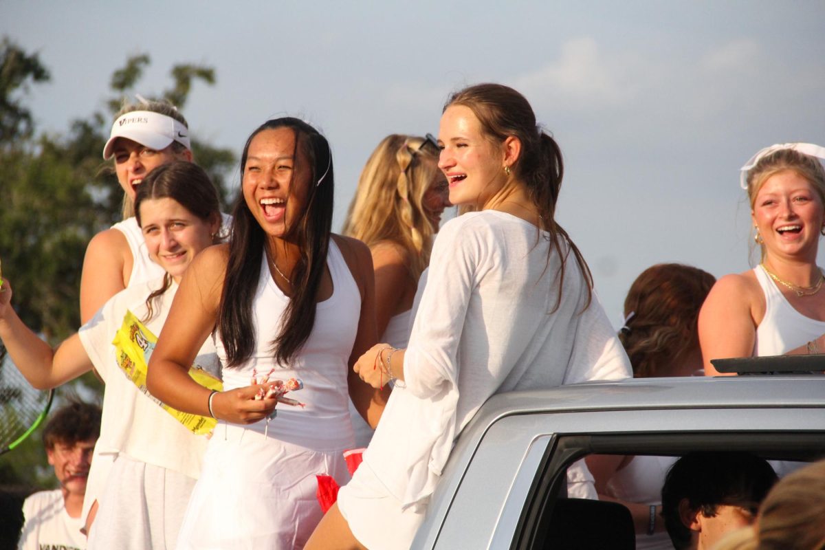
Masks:
[[[753,40],[731,40],[693,58],[662,59],[651,47],[614,49],[592,36],[568,40],[555,59],[517,75],[514,87],[555,110],[612,111],[646,106],[671,110],[678,101],[682,112],[712,114],[739,96],[744,82],[759,74],[785,73],[762,54]],[[761,100],[775,97],[773,79],[751,89]],[[737,84],[741,82],[741,84]],[[810,82],[822,86],[821,79]],[[761,102],[763,102],[761,101]]]

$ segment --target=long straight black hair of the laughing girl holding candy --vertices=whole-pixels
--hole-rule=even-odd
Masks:
[[[271,341],[276,361],[285,364],[304,346],[315,324],[318,287],[327,262],[332,228],[335,179],[332,174],[332,151],[327,139],[303,120],[282,117],[267,120],[247,139],[241,156],[241,181],[252,139],[264,130],[278,128],[289,128],[295,132],[295,165],[305,158],[311,169],[306,207],[299,219],[287,228],[300,250],[299,261],[290,277],[292,295],[284,311],[281,331],[273,335]],[[297,154],[299,151],[303,154]],[[297,171],[292,171],[293,177],[295,172]],[[319,180],[322,180],[320,185]],[[293,187],[290,185],[290,192],[291,189]],[[238,200],[235,201],[233,217],[232,232],[229,234],[229,262],[220,297],[218,320],[229,367],[242,364],[252,356],[255,349],[252,300],[257,292],[266,242],[266,234],[252,216],[243,193],[239,193]]]

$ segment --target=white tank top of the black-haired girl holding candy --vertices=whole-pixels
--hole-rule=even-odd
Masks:
[[[263,253],[263,252],[262,252]],[[287,394],[305,407],[279,404],[277,421],[269,423],[268,434],[278,440],[316,451],[346,449],[353,443],[347,402],[347,370],[361,316],[361,293],[336,243],[330,239],[327,265],[332,275],[332,296],[316,306],[315,325],[292,364],[277,364],[271,341],[277,336],[281,316],[289,297],[272,280],[266,261],[252,303],[255,322],[255,350],[239,367],[226,366],[226,350],[220,338],[215,350],[224,365],[224,390],[243,388],[252,379],[252,369],[264,375],[274,368],[270,379],[300,378],[304,388]],[[265,421],[244,426],[261,433]]]

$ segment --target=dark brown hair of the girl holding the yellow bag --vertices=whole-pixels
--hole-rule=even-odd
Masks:
[[[221,219],[218,190],[204,169],[192,162],[175,161],[163,164],[144,177],[134,196],[134,218],[139,228],[143,228],[140,205],[148,199],[172,199],[205,222]],[[167,273],[163,277],[163,286],[149,294],[146,299],[147,314],[144,322],[153,316],[153,300],[166,292],[170,286],[172,275]]]

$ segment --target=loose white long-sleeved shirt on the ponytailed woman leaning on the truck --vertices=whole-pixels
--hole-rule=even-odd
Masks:
[[[494,210],[446,223],[397,385],[364,455],[404,505],[429,496],[453,440],[494,393],[629,378],[629,360],[575,256]],[[558,307],[557,307],[558,301]]]

